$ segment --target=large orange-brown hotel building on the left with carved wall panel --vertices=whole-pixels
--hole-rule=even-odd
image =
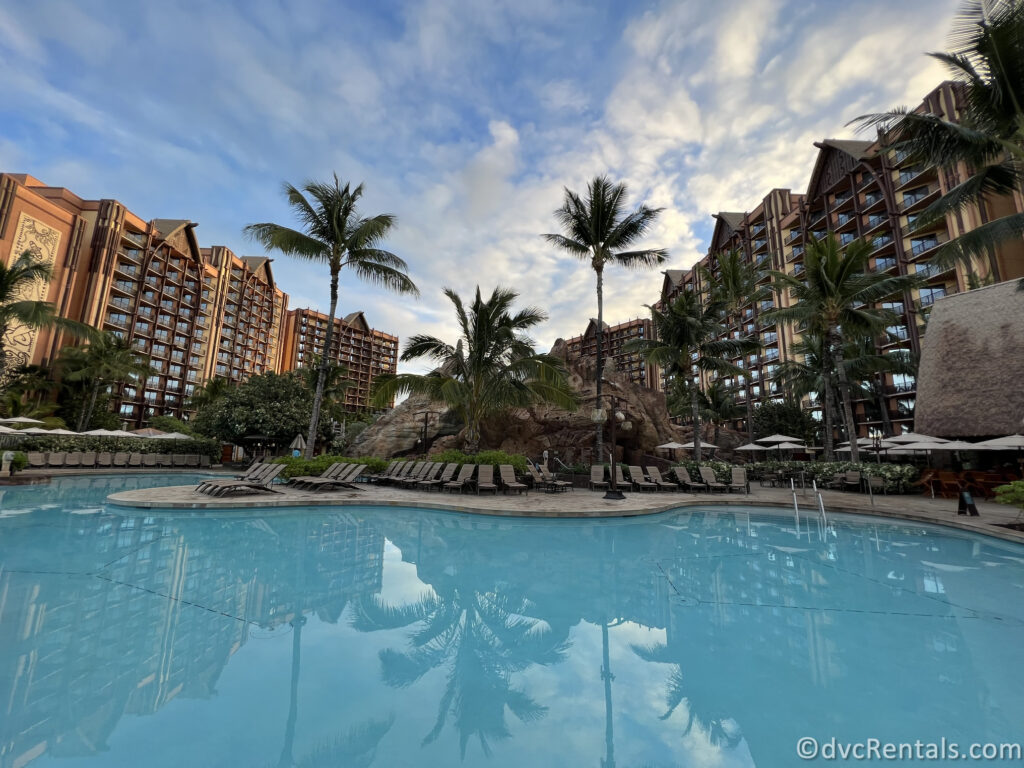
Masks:
[[[274,282],[271,260],[200,248],[196,227],[187,219],[146,220],[116,200],[83,200],[25,174],[0,174],[0,259],[9,263],[31,251],[53,269],[49,284],[26,298],[49,301],[59,316],[109,331],[150,357],[151,377],[112,392],[129,428],[156,415],[187,419],[194,390],[214,377],[239,383],[290,371],[306,354],[284,353],[288,295]],[[398,340],[369,329],[360,312],[341,328],[340,359],[356,380],[348,397],[353,409],[366,408],[373,377],[394,371]],[[7,371],[49,366],[75,343],[58,331],[22,327],[3,342]]]

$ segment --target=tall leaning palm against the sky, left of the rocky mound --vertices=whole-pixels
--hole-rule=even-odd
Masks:
[[[368,217],[359,215],[356,205],[362,197],[362,184],[354,189],[347,183],[342,187],[335,174],[333,184],[307,181],[299,189],[285,183],[285,195],[302,222],[302,231],[281,224],[262,223],[250,224],[245,233],[268,250],[324,263],[331,270],[331,309],[306,440],[306,458],[309,458],[316,442],[328,368],[330,360],[336,356],[334,316],[338,309],[338,275],[342,268],[348,267],[360,280],[398,293],[416,295],[419,291],[406,273],[409,265],[380,247],[394,226],[394,216],[386,213]]]

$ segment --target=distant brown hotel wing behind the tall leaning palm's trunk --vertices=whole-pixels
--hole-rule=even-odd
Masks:
[[[283,371],[316,365],[324,355],[328,316],[314,309],[288,312],[283,333]],[[370,410],[370,390],[380,374],[393,374],[398,365],[398,337],[370,328],[362,312],[334,318],[330,358],[347,369],[353,384],[345,390],[345,409]],[[393,402],[391,403],[393,404]]]

